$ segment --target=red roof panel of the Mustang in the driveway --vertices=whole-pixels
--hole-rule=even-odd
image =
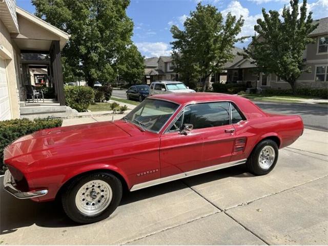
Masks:
[[[186,105],[186,104],[192,104],[198,102],[206,103],[207,101],[216,101],[216,100],[248,101],[248,99],[237,95],[211,93],[211,92],[156,94],[150,96],[149,98],[169,100],[172,101],[173,103],[177,103],[180,105]]]

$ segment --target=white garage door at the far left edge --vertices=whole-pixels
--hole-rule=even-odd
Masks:
[[[11,119],[5,60],[0,58],[0,120]]]

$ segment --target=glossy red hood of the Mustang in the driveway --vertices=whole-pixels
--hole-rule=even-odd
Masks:
[[[46,129],[12,142],[5,149],[4,159],[50,149],[70,148],[76,153],[91,146],[101,146],[105,141],[110,145],[129,141],[133,135],[140,133],[135,125],[120,120]]]

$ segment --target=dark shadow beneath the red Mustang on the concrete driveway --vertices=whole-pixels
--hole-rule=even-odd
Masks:
[[[190,183],[193,183],[193,185],[198,185],[200,183],[226,178],[229,176],[251,177],[252,175],[247,173],[247,169],[243,165],[240,165],[187,179]],[[48,228],[80,226],[79,224],[71,221],[65,215],[63,209],[61,208],[60,201],[38,203],[29,199],[19,200],[3,189],[3,177],[0,178],[0,182],[0,234],[12,233],[19,228],[28,227],[32,224],[36,224],[39,227]],[[183,179],[182,182],[186,183]],[[166,183],[135,192],[126,192],[122,197],[120,205],[138,202],[139,200],[174,192],[181,189],[181,187],[186,188],[185,185],[181,186],[181,180],[177,180],[171,182],[170,185]]]

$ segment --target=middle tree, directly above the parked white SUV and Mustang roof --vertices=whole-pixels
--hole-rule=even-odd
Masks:
[[[203,90],[206,79],[221,72],[223,65],[231,60],[233,46],[244,37],[239,37],[244,20],[228,13],[226,21],[211,5],[197,4],[196,10],[190,13],[183,24],[184,30],[177,26],[171,27],[171,33],[176,40],[172,42],[173,57],[188,57],[188,62],[202,79]],[[183,67],[184,59],[175,59],[177,68]]]

